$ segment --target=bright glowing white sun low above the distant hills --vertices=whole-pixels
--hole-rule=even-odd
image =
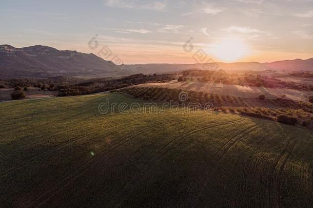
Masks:
[[[248,48],[242,40],[225,39],[214,44],[210,51],[221,61],[233,62],[247,55]]]

